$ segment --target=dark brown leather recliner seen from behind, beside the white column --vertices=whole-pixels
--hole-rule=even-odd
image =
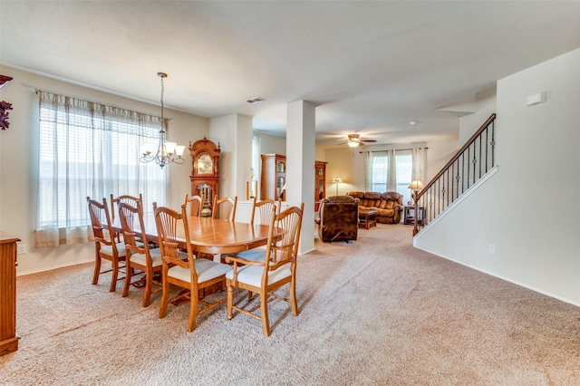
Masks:
[[[359,231],[359,199],[333,196],[320,202],[314,218],[322,241],[356,240]]]

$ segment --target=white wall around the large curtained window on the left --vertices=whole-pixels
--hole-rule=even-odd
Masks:
[[[42,271],[64,265],[73,265],[94,259],[92,243],[34,248],[36,218],[35,180],[37,154],[34,152],[38,127],[38,97],[31,88],[62,93],[89,101],[99,101],[122,108],[160,114],[160,106],[132,101],[106,92],[98,92],[71,83],[60,82],[31,72],[2,66],[0,73],[12,76],[14,81],[0,91],[3,101],[13,103],[10,111],[10,128],[0,132],[0,229],[23,240],[27,252],[18,255],[18,275]],[[151,82],[159,82],[152,78]],[[166,88],[169,87],[166,84]],[[157,100],[159,95],[151,95]],[[208,132],[208,120],[180,111],[166,110],[169,122],[169,138],[186,145],[189,140],[203,138]],[[189,173],[191,158],[186,150],[183,165],[169,168],[169,202],[178,207],[190,190]]]

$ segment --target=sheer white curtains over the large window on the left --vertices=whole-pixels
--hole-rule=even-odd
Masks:
[[[165,202],[166,171],[139,161],[140,141],[159,140],[159,117],[38,94],[37,247],[87,242],[92,237],[87,197],[141,193],[146,210],[153,201]]]

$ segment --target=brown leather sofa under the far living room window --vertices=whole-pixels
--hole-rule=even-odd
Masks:
[[[402,217],[402,195],[397,192],[348,192],[347,196],[359,199],[359,207],[377,211],[377,222],[399,224]]]

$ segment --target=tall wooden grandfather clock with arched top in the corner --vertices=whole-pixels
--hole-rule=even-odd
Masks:
[[[212,198],[219,192],[219,153],[221,149],[206,136],[189,142],[191,155],[191,195],[201,197],[201,217],[211,217]]]

